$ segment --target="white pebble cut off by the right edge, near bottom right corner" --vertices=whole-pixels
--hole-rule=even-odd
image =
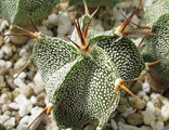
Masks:
[[[165,104],[161,107],[161,116],[164,121],[167,121],[169,119],[169,103]]]

